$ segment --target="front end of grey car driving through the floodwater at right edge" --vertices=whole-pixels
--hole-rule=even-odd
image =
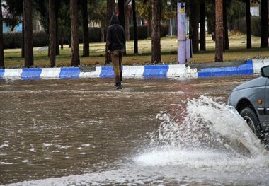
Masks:
[[[261,77],[234,88],[229,97],[229,105],[236,108],[260,139],[268,141],[269,66],[261,68]]]

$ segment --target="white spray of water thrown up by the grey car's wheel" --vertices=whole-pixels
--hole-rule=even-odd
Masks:
[[[234,107],[218,103],[218,98],[202,95],[187,100],[177,120],[166,112],[156,118],[161,124],[151,134],[152,148],[135,158],[139,164],[221,169],[269,166],[263,144]]]

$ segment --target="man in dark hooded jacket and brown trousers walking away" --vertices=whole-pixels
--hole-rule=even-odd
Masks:
[[[117,89],[122,89],[122,56],[125,52],[125,44],[125,30],[120,25],[118,17],[114,14],[108,27],[108,33],[106,34],[106,45],[111,55],[115,74],[115,86]]]

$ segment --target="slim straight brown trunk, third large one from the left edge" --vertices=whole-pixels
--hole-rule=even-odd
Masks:
[[[56,65],[56,16],[55,16],[55,0],[49,1],[50,13],[50,67]]]

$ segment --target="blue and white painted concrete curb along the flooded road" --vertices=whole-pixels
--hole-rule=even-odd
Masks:
[[[212,76],[233,76],[259,74],[269,59],[250,59],[242,62],[212,64],[171,64],[123,66],[124,78],[201,78]],[[208,67],[212,66],[212,67]],[[113,78],[113,66],[0,69],[0,79],[86,79]]]

